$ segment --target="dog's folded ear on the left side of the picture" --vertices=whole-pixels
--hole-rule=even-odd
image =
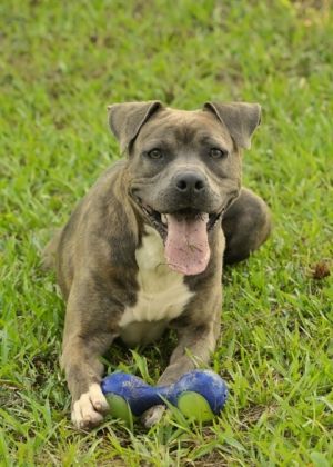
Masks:
[[[130,150],[142,126],[163,107],[159,100],[124,102],[108,106],[109,125],[122,151]]]

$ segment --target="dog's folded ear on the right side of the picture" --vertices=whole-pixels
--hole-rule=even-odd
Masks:
[[[259,103],[205,102],[203,108],[218,117],[239,147],[246,149],[251,147],[251,136],[261,120]]]

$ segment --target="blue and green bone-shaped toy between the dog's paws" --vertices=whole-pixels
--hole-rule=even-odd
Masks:
[[[223,379],[209,370],[193,370],[173,385],[158,387],[135,376],[114,372],[102,380],[101,387],[112,417],[127,423],[152,406],[165,405],[165,400],[178,407],[185,417],[208,421],[220,414],[228,396]]]

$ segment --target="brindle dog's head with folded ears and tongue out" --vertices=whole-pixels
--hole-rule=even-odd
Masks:
[[[202,272],[209,236],[241,188],[241,148],[260,122],[256,103],[206,102],[202,110],[159,101],[109,107],[110,127],[128,153],[129,196],[165,242],[174,270]]]

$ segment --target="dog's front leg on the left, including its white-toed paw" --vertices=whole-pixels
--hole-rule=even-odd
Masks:
[[[71,418],[78,428],[99,425],[108,411],[100,381],[100,357],[115,337],[117,310],[90,284],[72,286],[65,315],[61,366],[72,396]]]

